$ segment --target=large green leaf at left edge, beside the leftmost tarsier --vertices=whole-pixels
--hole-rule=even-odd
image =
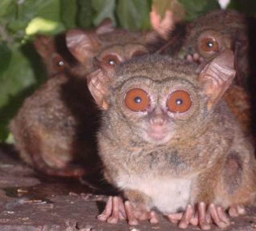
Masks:
[[[9,136],[8,124],[22,101],[45,79],[45,70],[30,43],[11,49],[8,68],[0,74],[0,141]]]

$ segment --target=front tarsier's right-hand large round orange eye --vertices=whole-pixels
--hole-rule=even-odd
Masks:
[[[166,102],[166,106],[170,112],[182,113],[189,110],[192,105],[192,99],[188,92],[177,90],[172,92]]]

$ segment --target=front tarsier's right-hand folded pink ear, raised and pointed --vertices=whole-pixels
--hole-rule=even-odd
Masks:
[[[220,53],[200,72],[198,81],[208,96],[208,109],[220,100],[235,75],[234,53],[228,49]]]

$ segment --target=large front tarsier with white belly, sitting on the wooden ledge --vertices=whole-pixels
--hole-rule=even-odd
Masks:
[[[99,220],[155,223],[157,210],[181,228],[209,229],[230,224],[225,210],[245,212],[256,196],[254,149],[222,100],[235,74],[226,50],[204,67],[146,55],[89,75],[104,105],[103,173],[124,196],[110,197]]]

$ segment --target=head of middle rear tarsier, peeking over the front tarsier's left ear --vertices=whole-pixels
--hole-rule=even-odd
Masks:
[[[66,34],[68,49],[87,70],[92,70],[93,58],[115,66],[133,56],[146,54],[146,43],[152,39],[154,32],[143,34],[115,29],[109,19],[94,31],[72,29]]]

